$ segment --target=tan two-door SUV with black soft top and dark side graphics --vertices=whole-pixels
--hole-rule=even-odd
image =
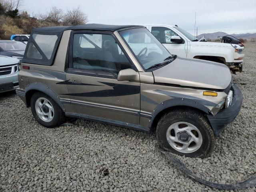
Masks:
[[[210,154],[242,104],[227,66],[172,55],[143,26],[36,28],[18,80],[43,126],[70,116],[156,130],[162,148],[189,157]]]

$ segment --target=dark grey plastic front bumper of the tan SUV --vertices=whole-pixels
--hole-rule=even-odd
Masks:
[[[232,122],[240,112],[243,95],[238,86],[233,85],[232,88],[234,90],[232,104],[228,108],[218,112],[218,114],[215,116],[210,114],[207,115],[216,136],[218,136],[218,134],[220,134],[220,132],[224,129],[224,126]]]

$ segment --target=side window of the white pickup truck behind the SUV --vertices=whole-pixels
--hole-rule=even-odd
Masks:
[[[151,31],[160,43],[175,43],[171,41],[171,36],[178,36],[178,34],[166,27],[152,27]]]

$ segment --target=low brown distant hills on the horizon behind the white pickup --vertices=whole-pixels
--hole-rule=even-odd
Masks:
[[[205,36],[206,39],[218,39],[218,37],[222,37],[228,35],[227,33],[224,32],[215,32],[215,33],[204,33],[198,35],[198,39],[202,38]],[[256,38],[256,33],[242,33],[242,34],[230,34],[236,38],[243,38],[243,39],[250,39],[250,38]]]

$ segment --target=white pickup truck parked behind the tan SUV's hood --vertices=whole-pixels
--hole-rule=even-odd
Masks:
[[[144,25],[170,53],[185,58],[196,58],[226,64],[230,70],[242,71],[244,47],[238,44],[205,42],[178,26]]]

